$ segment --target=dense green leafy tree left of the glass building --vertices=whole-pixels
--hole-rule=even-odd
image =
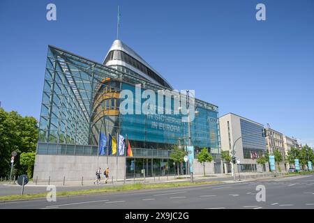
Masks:
[[[10,174],[10,157],[17,152],[14,166],[17,174],[24,174],[20,154],[36,151],[38,126],[36,118],[21,116],[17,112],[6,112],[0,108],[0,176]]]

